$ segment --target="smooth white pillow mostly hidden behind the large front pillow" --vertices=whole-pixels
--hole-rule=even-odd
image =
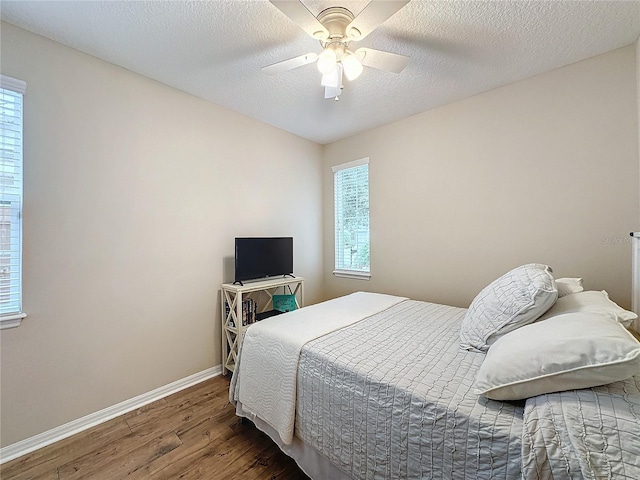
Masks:
[[[548,318],[571,312],[612,314],[614,318],[625,327],[631,325],[631,322],[638,318],[635,313],[625,310],[617,303],[611,301],[606,291],[596,292],[588,290],[559,298],[553,307],[538,320],[547,320]]]

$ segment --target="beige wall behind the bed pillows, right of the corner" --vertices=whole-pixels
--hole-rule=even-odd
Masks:
[[[325,292],[468,306],[523,263],[625,307],[640,227],[631,45],[328,145]],[[334,278],[331,165],[370,158],[370,281]]]

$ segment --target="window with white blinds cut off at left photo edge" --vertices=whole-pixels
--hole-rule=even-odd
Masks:
[[[0,75],[0,328],[22,312],[22,100],[26,84]]]

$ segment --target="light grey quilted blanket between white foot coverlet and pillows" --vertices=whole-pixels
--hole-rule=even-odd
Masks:
[[[296,434],[353,479],[519,479],[523,403],[473,393],[465,312],[407,300],[307,343]]]

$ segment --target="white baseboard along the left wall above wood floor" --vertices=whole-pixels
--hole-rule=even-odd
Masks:
[[[156,400],[160,400],[168,395],[184,390],[185,388],[196,385],[197,383],[204,382],[210,378],[217,377],[222,374],[222,365],[217,365],[212,368],[203,370],[202,372],[194,373],[188,377],[176,380],[163,387],[156,388],[150,392],[143,393],[137,397],[125,400],[111,407],[107,407],[95,413],[91,413],[85,417],[73,420],[72,422],[65,423],[59,427],[52,428],[46,432],[40,433],[33,437],[27,438],[17,443],[7,445],[4,448],[0,448],[0,464],[13,460],[14,458],[21,457],[27,453],[31,453],[47,445],[51,445],[63,438],[70,437],[76,433],[82,432],[88,428],[94,427],[101,423],[111,420],[119,415],[130,412],[144,405],[147,405]]]

